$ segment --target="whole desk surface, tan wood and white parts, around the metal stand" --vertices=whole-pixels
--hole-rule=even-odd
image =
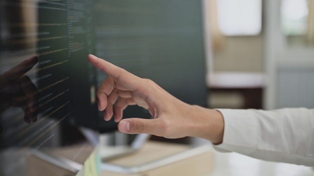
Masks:
[[[54,151],[54,153],[64,154],[67,153],[69,157],[73,157],[75,152],[81,147],[74,146],[72,149],[67,147],[63,151]],[[161,142],[148,142],[142,151],[138,152],[137,156],[126,156],[111,160],[111,163],[119,163],[124,165],[136,165],[141,162],[149,161],[151,157],[164,157],[169,154],[176,152],[185,151],[189,147],[182,144],[172,144],[172,143],[161,143]],[[81,155],[77,157],[75,161],[83,162],[85,157],[88,156],[87,153],[91,151],[91,147],[85,147],[86,155]],[[153,152],[152,152],[153,151]],[[63,152],[63,153],[62,153]],[[140,156],[144,154],[145,156]],[[136,153],[135,153],[136,155]],[[140,156],[140,157],[139,157]],[[139,157],[139,159],[134,159],[134,157]],[[32,176],[37,175],[76,175],[68,171],[62,171],[54,165],[49,165],[36,157],[32,157],[29,160],[30,172]],[[58,174],[54,171],[59,170]],[[61,170],[61,171],[60,171]],[[60,174],[59,174],[60,173]],[[280,162],[270,162],[263,161],[248,156],[244,156],[238,153],[222,153],[217,152],[213,148],[210,148],[209,152],[198,155],[196,157],[191,157],[189,159],[182,160],[173,164],[166,165],[164,168],[157,168],[149,170],[148,172],[139,174],[122,174],[110,171],[102,171],[101,176],[146,176],[146,175],[200,175],[200,176],[280,176],[280,175],[302,175],[302,176],[312,176],[314,175],[314,170],[311,167],[294,165]]]

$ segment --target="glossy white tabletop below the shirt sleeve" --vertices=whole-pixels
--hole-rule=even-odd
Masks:
[[[215,166],[208,176],[313,176],[312,167],[264,161],[235,152],[213,152]]]

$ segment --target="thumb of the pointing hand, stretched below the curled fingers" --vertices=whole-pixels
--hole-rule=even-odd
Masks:
[[[156,119],[146,119],[146,118],[125,118],[119,121],[118,130],[123,133],[129,134],[156,134],[158,132],[158,127],[155,124]]]

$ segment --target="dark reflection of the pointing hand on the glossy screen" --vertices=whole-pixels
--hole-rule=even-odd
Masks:
[[[0,75],[0,114],[10,107],[21,107],[24,111],[24,121],[37,120],[39,93],[27,71],[38,62],[33,56]],[[0,124],[0,133],[2,131]]]

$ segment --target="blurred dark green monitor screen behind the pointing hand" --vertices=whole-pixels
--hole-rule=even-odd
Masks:
[[[95,0],[96,55],[206,106],[202,4],[196,0]],[[97,72],[98,83],[106,75]],[[129,107],[125,117],[149,117]]]

